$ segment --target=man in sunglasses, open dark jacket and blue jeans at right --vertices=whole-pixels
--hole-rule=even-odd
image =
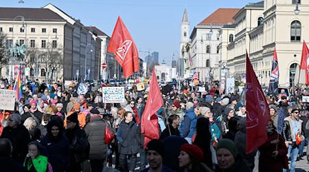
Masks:
[[[299,120],[299,109],[293,109],[290,116],[284,118],[283,136],[288,148],[288,158],[290,158],[290,171],[295,172],[297,155],[299,152],[298,139],[304,140],[301,136],[302,120]],[[286,171],[286,169],[284,170]]]

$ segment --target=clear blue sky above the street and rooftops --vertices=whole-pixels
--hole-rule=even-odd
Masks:
[[[0,0],[1,7],[41,8],[54,4],[84,25],[92,25],[111,36],[117,17],[122,17],[139,56],[159,52],[159,63],[170,64],[179,56],[181,20],[187,7],[190,32],[218,8],[242,8],[261,0]]]

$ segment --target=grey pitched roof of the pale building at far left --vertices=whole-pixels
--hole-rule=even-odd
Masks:
[[[52,10],[45,8],[0,8],[0,20],[12,21],[17,16],[24,17],[25,21],[65,21]]]

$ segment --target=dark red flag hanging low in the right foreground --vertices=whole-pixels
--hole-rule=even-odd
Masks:
[[[266,125],[269,107],[247,54],[247,151],[251,153],[267,140]]]

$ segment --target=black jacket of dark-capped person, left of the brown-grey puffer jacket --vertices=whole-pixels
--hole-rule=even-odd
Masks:
[[[76,125],[73,129],[67,129],[65,136],[67,136],[70,144],[71,161],[83,162],[86,160],[89,154],[89,142],[86,132]]]

